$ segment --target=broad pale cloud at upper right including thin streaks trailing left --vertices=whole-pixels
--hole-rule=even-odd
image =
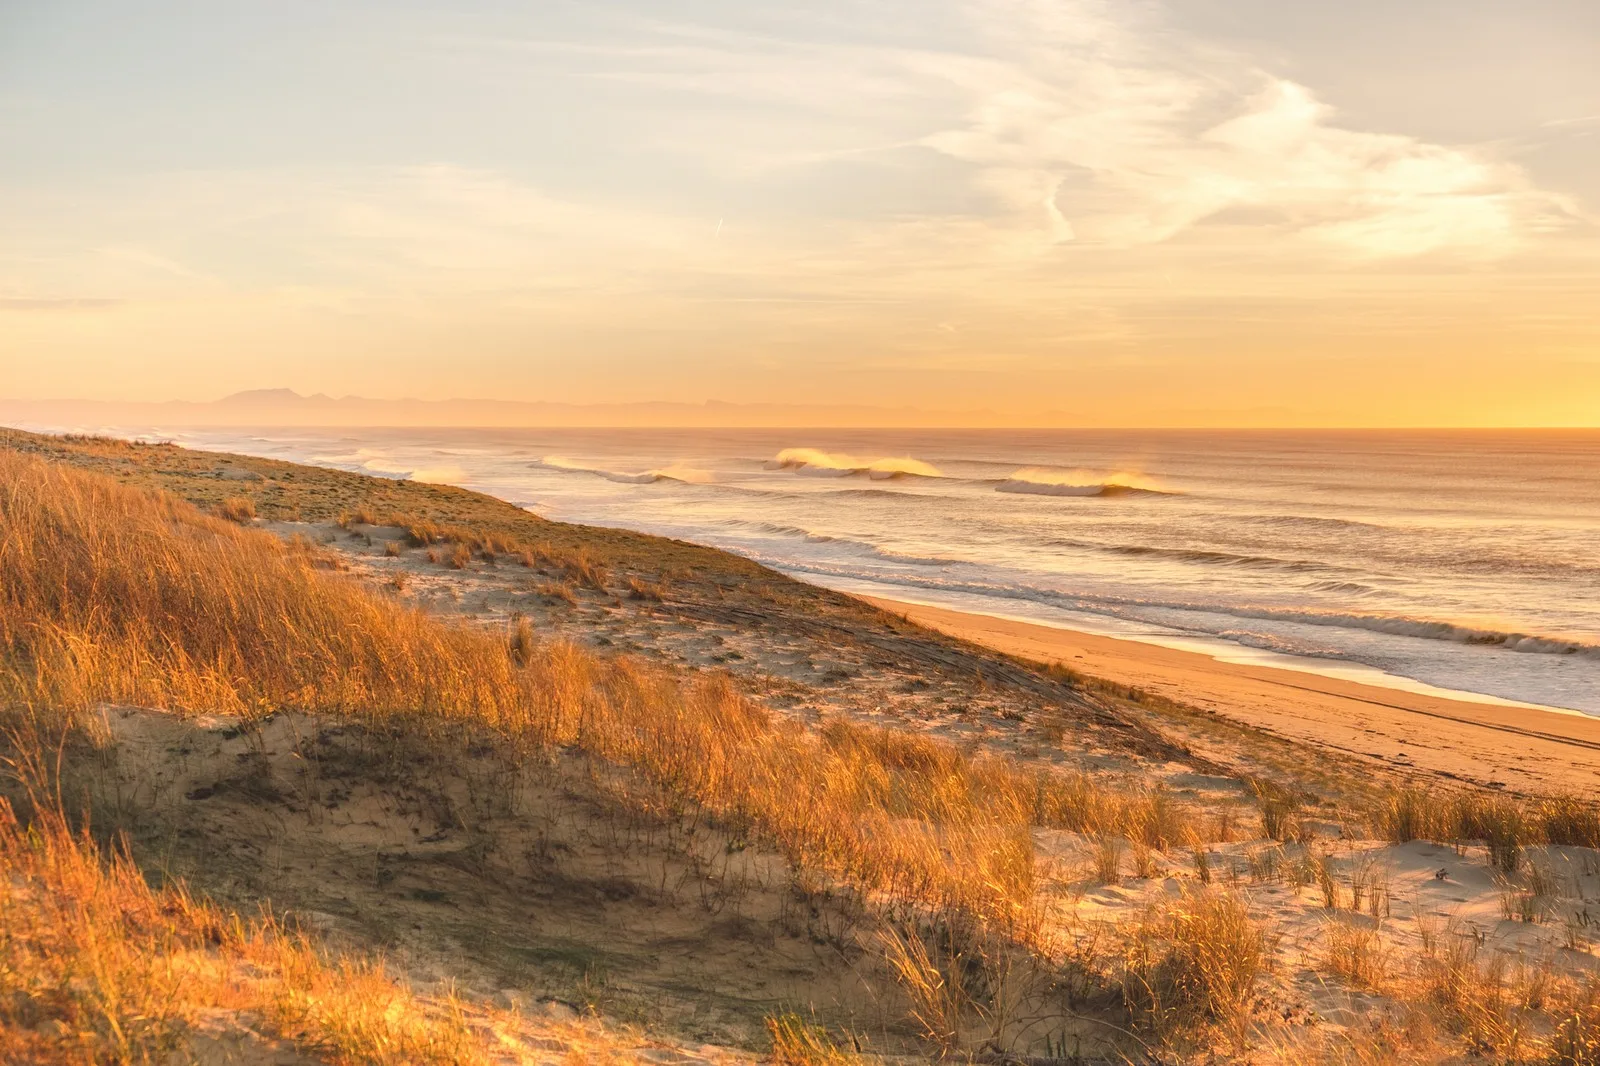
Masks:
[[[1349,125],[1314,86],[1179,30],[1154,0],[893,10],[968,34],[910,46],[853,38],[822,16],[797,18],[787,37],[640,18],[611,22],[605,38],[478,43],[560,56],[586,80],[702,98],[702,112],[664,125],[659,147],[746,178],[933,150],[968,168],[941,181],[970,182],[990,210],[931,211],[917,187],[926,174],[910,171],[886,232],[949,227],[973,242],[974,264],[1059,243],[1174,238],[1272,254],[1291,242],[1312,256],[1493,258],[1581,218],[1493,146]],[[1248,229],[1195,232],[1240,213]]]

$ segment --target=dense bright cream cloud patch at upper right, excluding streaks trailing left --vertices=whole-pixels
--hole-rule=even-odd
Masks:
[[[1155,5],[970,10],[994,56],[950,64],[974,102],[925,142],[1054,238],[1154,243],[1251,208],[1258,232],[1363,256],[1493,256],[1576,214],[1483,150],[1342,126],[1310,88],[1184,38]]]

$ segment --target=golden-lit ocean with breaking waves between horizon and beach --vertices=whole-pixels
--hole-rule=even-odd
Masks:
[[[128,431],[803,581],[1600,714],[1595,431]]]

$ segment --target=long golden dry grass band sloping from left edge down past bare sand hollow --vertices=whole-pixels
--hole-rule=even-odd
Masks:
[[[306,546],[170,496],[0,456],[0,674],[35,720],[102,703],[333,712],[378,731],[568,746],[878,896],[1026,930],[1032,824],[1160,839],[1170,805],[1021,773],[928,739],[774,720],[725,680],[680,683],[565,643],[445,624],[318,568]],[[1163,813],[1166,812],[1166,813]]]

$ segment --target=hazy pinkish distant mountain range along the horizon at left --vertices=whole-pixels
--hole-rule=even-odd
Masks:
[[[1069,424],[1054,413],[1053,421]],[[915,427],[1014,424],[994,411],[811,403],[547,403],[530,400],[374,400],[250,389],[221,400],[0,400],[0,423],[51,427],[202,426],[651,426]]]

